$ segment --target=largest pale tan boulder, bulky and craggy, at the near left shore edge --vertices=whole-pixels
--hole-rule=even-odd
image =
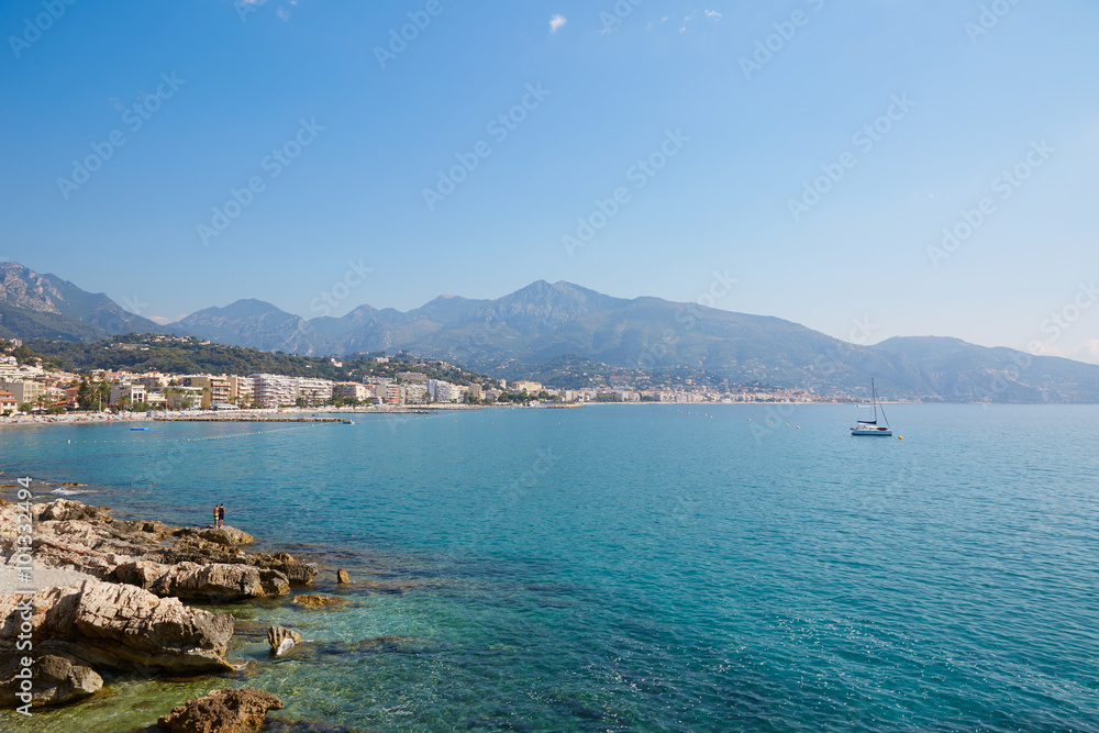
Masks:
[[[0,597],[0,653],[7,656],[22,597]],[[130,585],[99,580],[40,590],[30,600],[35,652],[57,652],[92,668],[197,674],[232,669],[225,651],[233,617],[190,609],[175,598],[157,598]],[[48,645],[48,646],[47,646]],[[12,652],[13,654],[13,652]]]

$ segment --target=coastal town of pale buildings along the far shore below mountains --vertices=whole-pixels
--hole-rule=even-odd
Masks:
[[[147,348],[116,342],[116,352]],[[344,364],[329,358],[332,367]],[[445,360],[408,354],[369,358],[371,368],[357,379],[285,374],[210,374],[98,368],[66,370],[24,346],[0,341],[0,415],[73,412],[148,413],[168,411],[246,411],[284,408],[417,409],[424,407],[580,406],[641,402],[813,402],[804,389],[688,384],[639,387],[630,376],[611,376],[591,387],[564,389],[531,379],[506,380],[469,373]],[[433,375],[455,375],[451,380]],[[828,401],[834,401],[832,399]]]

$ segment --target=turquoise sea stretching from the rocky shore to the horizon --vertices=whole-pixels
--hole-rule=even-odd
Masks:
[[[247,684],[356,731],[1099,730],[1099,408],[893,406],[903,441],[771,410],[0,431],[3,478],[177,523],[222,501],[355,581],[227,609],[227,680],[16,724],[125,731]],[[312,641],[273,660],[270,623]]]

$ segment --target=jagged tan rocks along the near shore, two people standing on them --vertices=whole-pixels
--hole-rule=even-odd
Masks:
[[[13,527],[25,508],[0,500],[4,557],[15,555]],[[246,552],[254,537],[230,526],[118,520],[108,509],[70,499],[33,503],[31,519],[34,592],[18,592],[29,589],[25,579],[16,582],[14,566],[0,565],[0,708],[19,709],[26,697],[33,708],[77,703],[103,688],[104,677],[233,670],[225,657],[233,614],[185,601],[217,606],[284,596],[318,575],[315,565],[285,552]],[[273,628],[268,637],[273,651],[300,641],[286,629]],[[187,710],[163,711],[158,724],[257,731],[266,711],[281,707],[259,690],[220,690]]]

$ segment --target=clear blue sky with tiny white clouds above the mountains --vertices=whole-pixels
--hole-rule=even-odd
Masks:
[[[9,0],[0,258],[146,316],[542,278],[1099,363],[1099,5],[634,2]]]

